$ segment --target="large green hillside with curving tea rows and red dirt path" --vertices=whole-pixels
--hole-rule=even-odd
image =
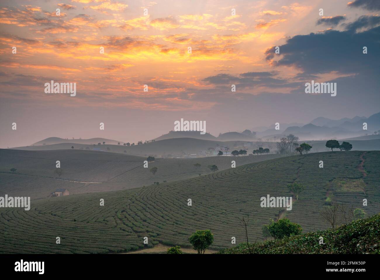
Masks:
[[[323,168],[318,167],[320,160]],[[159,186],[38,199],[30,211],[1,208],[0,253],[125,252],[143,248],[144,237],[149,239],[145,247],[158,242],[188,247],[188,237],[198,229],[214,233],[211,249],[228,248],[233,246],[231,237],[244,242],[237,217],[249,214],[250,240],[262,238],[261,226],[275,218],[278,209],[261,208],[260,197],[290,196],[287,184],[294,181],[306,189],[284,215],[304,231],[326,229],[318,210],[328,196],[362,208],[366,216],[380,212],[379,170],[378,151],[324,152],[250,163]],[[355,187],[360,179],[365,193],[360,183]],[[341,182],[353,187],[343,188]],[[187,205],[189,198],[192,206]],[[366,207],[363,198],[368,200]]]

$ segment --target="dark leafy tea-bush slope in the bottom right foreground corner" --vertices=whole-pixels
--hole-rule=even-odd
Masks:
[[[319,244],[321,236],[325,244]],[[251,244],[250,248],[254,254],[379,254],[380,215],[353,221],[334,230]],[[234,248],[220,250],[218,254],[249,254],[249,250],[246,243],[240,243]]]

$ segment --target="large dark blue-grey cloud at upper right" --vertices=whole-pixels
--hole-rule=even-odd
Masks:
[[[361,20],[351,24],[359,25]],[[363,26],[363,24],[362,24]],[[274,66],[294,66],[305,74],[329,73],[336,71],[344,74],[379,74],[380,27],[360,33],[353,29],[345,31],[328,30],[309,35],[297,35],[280,46],[280,54],[275,54],[274,47],[265,52],[266,59]],[[363,47],[368,49],[363,54]],[[279,60],[275,60],[275,57]]]

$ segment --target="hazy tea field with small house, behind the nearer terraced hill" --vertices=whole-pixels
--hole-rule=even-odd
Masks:
[[[234,157],[236,165],[279,157],[276,154]],[[59,160],[63,173],[54,170]],[[143,167],[146,157],[82,150],[23,151],[0,149],[0,195],[49,196],[52,191],[67,188],[70,194],[116,191],[152,185],[155,181],[174,181],[211,173],[207,165],[219,170],[231,167],[231,157],[202,157],[195,159],[157,159]],[[196,169],[195,163],[201,164]],[[157,167],[153,175],[149,170]],[[13,174],[11,168],[16,168]],[[84,183],[82,183],[84,182]],[[90,182],[90,183],[89,183]]]

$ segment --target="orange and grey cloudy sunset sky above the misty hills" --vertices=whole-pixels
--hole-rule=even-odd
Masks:
[[[0,148],[145,141],[181,118],[217,136],[369,117],[380,111],[379,13],[378,0],[3,0]],[[76,95],[46,93],[52,80]],[[337,95],[305,93],[312,80]]]

